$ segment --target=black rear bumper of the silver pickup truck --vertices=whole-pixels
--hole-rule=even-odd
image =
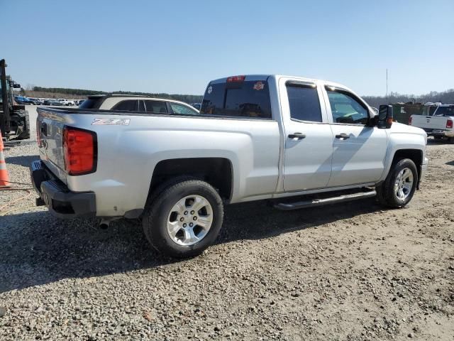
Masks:
[[[96,216],[95,194],[70,191],[41,161],[31,164],[31,181],[52,215],[60,218]]]

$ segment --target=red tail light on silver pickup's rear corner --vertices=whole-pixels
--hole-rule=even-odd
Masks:
[[[69,175],[83,175],[96,171],[96,133],[65,126],[63,129],[65,169]]]

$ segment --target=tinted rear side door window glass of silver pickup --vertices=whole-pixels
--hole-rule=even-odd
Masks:
[[[310,85],[287,84],[290,117],[299,121],[321,122],[319,94]]]

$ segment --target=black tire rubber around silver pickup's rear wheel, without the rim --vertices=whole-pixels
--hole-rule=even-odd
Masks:
[[[167,219],[172,207],[179,200],[190,195],[204,197],[211,205],[213,217],[211,227],[199,242],[192,245],[180,245],[174,242],[167,232]],[[209,183],[192,178],[179,178],[160,186],[153,195],[150,195],[142,220],[143,231],[148,242],[162,254],[175,258],[189,258],[201,254],[218,237],[222,222],[221,197]]]

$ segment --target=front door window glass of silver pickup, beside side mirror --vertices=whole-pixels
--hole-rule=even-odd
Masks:
[[[369,113],[364,104],[358,102],[352,94],[326,90],[333,114],[334,123],[367,124]]]

